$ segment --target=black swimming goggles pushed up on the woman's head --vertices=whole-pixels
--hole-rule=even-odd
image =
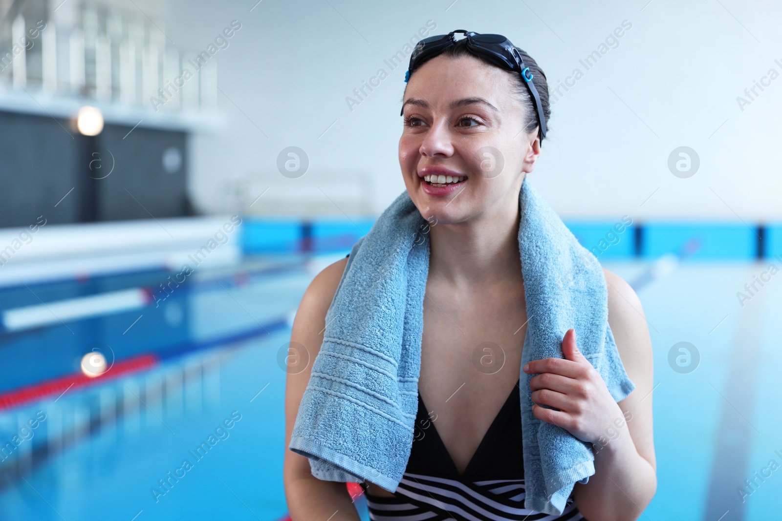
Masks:
[[[413,54],[410,56],[410,66],[407,67],[407,73],[404,75],[405,83],[407,83],[407,80],[410,80],[411,70],[415,70],[421,63],[434,58],[452,45],[456,45],[457,40],[454,37],[456,33],[465,35],[467,50],[473,55],[486,59],[504,70],[518,71],[521,74],[524,84],[526,84],[529,93],[535,100],[537,120],[538,125],[540,125],[540,138],[546,137],[546,118],[543,116],[543,105],[540,103],[540,96],[535,88],[535,84],[532,82],[533,73],[529,72],[529,67],[526,66],[526,63],[521,55],[518,54],[518,50],[511,44],[511,41],[502,34],[478,34],[459,29],[452,30],[448,34],[424,38],[415,45]],[[400,116],[402,114],[404,114],[404,108],[400,112]]]

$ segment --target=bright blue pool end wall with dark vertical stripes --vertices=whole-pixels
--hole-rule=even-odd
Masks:
[[[374,218],[342,220],[244,219],[248,255],[328,253],[350,249]],[[770,259],[782,255],[782,223],[633,222],[565,220],[579,243],[598,260],[658,259],[673,253],[692,260]]]

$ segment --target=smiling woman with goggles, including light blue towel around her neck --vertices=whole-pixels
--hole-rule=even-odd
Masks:
[[[465,38],[457,40],[456,33]],[[312,346],[310,359],[317,359],[312,369],[289,372],[286,387],[292,451],[285,455],[285,491],[292,519],[358,519],[339,483],[346,480],[362,484],[372,519],[637,519],[656,489],[651,341],[630,286],[601,269],[526,181],[550,116],[543,71],[503,36],[454,31],[418,44],[403,99],[399,162],[406,191],[391,210],[410,202],[435,223],[427,228],[428,241],[411,247],[429,248],[422,312],[409,323],[389,300],[370,306],[370,317],[340,321],[364,304],[339,297],[361,288],[356,273],[368,269],[362,259],[371,255],[364,251],[393,234],[386,228],[393,211],[384,212],[349,259],[310,284],[292,342]],[[535,226],[540,241],[522,241],[533,237]],[[576,255],[546,247],[560,235],[575,244]],[[398,265],[410,270],[401,279],[408,282],[375,266],[380,273],[364,301],[382,282],[388,294],[407,294],[407,306],[418,305],[409,282],[421,269],[416,255],[420,250],[402,255]],[[570,269],[558,272],[563,264]],[[567,282],[559,289],[545,284],[554,279]],[[407,293],[399,284],[408,284]],[[579,316],[597,317],[593,326],[604,335],[555,303],[584,293],[596,297]],[[555,311],[551,322],[545,311],[536,313],[546,306]],[[335,337],[376,316],[390,322],[383,334],[375,330],[377,338],[370,334],[362,344]],[[420,337],[420,352],[414,345],[406,355],[404,341],[397,346],[384,338],[393,337],[393,327]],[[535,357],[548,335],[555,355]],[[599,352],[590,351],[596,336]],[[415,373],[405,356],[415,361],[418,355]],[[500,355],[502,363],[495,363]],[[377,369],[372,357],[393,369]],[[333,360],[351,369],[329,373]],[[371,374],[360,379],[362,367]],[[372,387],[386,377],[392,382]],[[411,383],[417,393],[404,387]],[[410,427],[409,443],[391,444],[398,427],[378,429],[373,415]],[[617,423],[623,417],[633,421]],[[414,436],[414,426],[433,418],[433,430]],[[594,451],[606,432],[611,443]],[[364,464],[368,455],[387,450],[389,458]],[[584,459],[571,462],[572,453]],[[401,476],[398,460],[407,462]]]

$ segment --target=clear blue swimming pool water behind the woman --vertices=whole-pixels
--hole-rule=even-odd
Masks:
[[[736,296],[769,262],[693,260],[637,290],[657,386],[658,491],[643,519],[776,516],[782,469],[770,470],[769,461],[782,465],[782,355],[773,327],[782,311],[782,274],[743,306]],[[635,280],[649,262],[605,259],[604,266]],[[282,519],[285,371],[278,352],[316,272],[299,267],[264,275],[240,266],[204,273],[160,308],[76,321],[70,330],[59,324],[4,334],[0,391],[30,384],[35,375],[74,371],[94,341],[117,359],[154,352],[159,363],[0,411],[2,444],[38,411],[46,415],[13,457],[0,461],[0,519]],[[30,290],[50,302],[154,284],[162,275]],[[33,302],[22,290],[0,291],[0,308]],[[669,350],[683,341],[700,355],[691,373],[669,364]],[[207,448],[197,459],[202,443]],[[744,480],[753,479],[750,488]],[[168,480],[167,489],[159,480]]]

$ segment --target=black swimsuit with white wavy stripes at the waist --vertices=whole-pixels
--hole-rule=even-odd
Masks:
[[[439,519],[584,519],[569,498],[561,516],[523,508],[524,458],[518,383],[486,431],[465,473],[459,475],[418,394],[410,459],[393,498],[366,494],[375,521]]]

